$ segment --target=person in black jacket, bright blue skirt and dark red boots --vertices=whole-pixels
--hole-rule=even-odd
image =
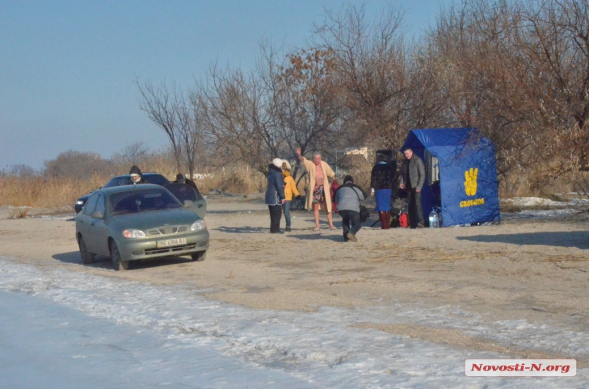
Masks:
[[[380,219],[380,228],[388,230],[390,228],[390,198],[394,184],[394,172],[392,166],[386,162],[384,155],[377,157],[377,163],[374,165],[371,174],[371,196],[376,200],[376,211]]]

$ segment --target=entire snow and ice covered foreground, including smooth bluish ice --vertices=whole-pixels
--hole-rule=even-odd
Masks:
[[[589,353],[589,334],[397,304],[252,310],[154,286],[0,256],[0,388],[587,388],[577,377],[466,377],[444,347],[354,325],[447,327],[503,345]]]

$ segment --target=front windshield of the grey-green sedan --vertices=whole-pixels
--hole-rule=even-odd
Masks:
[[[110,196],[112,215],[181,208],[182,204],[166,190],[125,191]]]

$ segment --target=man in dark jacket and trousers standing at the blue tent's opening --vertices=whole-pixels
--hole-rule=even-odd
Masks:
[[[401,189],[407,191],[409,201],[409,226],[410,228],[423,228],[423,209],[421,206],[421,189],[425,183],[425,165],[410,148],[403,151],[405,161],[401,169]]]

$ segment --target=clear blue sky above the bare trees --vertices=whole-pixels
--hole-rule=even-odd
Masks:
[[[110,157],[126,144],[165,146],[138,108],[136,77],[188,86],[209,64],[249,68],[262,38],[301,46],[324,9],[406,10],[408,32],[450,0],[0,0],[0,170],[73,149]]]

